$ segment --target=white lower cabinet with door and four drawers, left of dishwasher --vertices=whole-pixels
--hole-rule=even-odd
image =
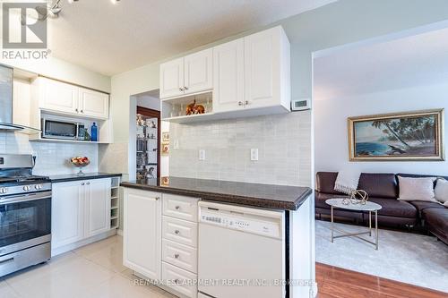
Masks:
[[[125,188],[124,200],[124,265],[196,298],[199,199]]]

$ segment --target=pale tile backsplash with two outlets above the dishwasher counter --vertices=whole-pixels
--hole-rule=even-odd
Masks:
[[[246,183],[311,183],[311,113],[170,126],[169,175]],[[175,144],[178,142],[178,148]],[[199,160],[199,150],[205,160]],[[250,150],[259,160],[251,161]]]

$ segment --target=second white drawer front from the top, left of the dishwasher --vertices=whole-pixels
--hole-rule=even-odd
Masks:
[[[197,224],[173,217],[163,217],[162,237],[177,243],[197,247]]]

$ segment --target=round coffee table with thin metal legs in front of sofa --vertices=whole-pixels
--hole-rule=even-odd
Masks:
[[[334,198],[325,200],[325,203],[330,205],[332,207],[332,242],[336,238],[342,238],[342,237],[356,237],[362,241],[365,241],[366,243],[371,243],[375,245],[375,250],[378,250],[378,210],[382,209],[381,205],[376,204],[372,201],[366,201],[366,204],[353,204],[350,203],[349,205],[343,204],[342,200],[343,198]],[[352,210],[352,211],[368,211],[368,231],[366,232],[360,232],[360,233],[349,233],[343,230],[340,230],[336,227],[334,227],[334,217],[333,217],[333,209],[345,209],[345,210]],[[370,240],[367,240],[363,237],[360,237],[362,234],[368,234],[369,236],[372,236],[372,212],[375,213],[375,242],[372,242]],[[339,232],[340,235],[335,236],[334,232]]]

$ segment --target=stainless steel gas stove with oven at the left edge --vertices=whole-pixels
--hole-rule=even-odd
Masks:
[[[0,277],[51,257],[51,183],[31,175],[33,165],[0,155]]]

